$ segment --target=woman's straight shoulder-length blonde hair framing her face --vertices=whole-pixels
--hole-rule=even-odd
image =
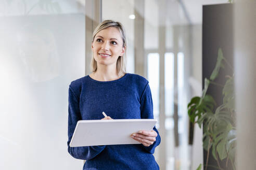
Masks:
[[[94,41],[94,38],[98,32],[100,32],[101,30],[107,29],[110,26],[116,27],[119,30],[123,40],[123,48],[126,48],[126,36],[124,32],[124,27],[120,22],[116,22],[113,20],[105,20],[98,24],[98,26],[93,32],[92,42]],[[117,60],[117,74],[119,76],[126,73],[126,68],[125,68],[126,55],[125,54],[126,54],[126,49],[123,56],[119,56]],[[97,62],[95,61],[93,54],[92,54],[92,60],[91,60],[91,70],[92,72],[96,72],[97,70]]]

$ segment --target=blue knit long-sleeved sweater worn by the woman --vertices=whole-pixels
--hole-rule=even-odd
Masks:
[[[125,74],[113,81],[97,81],[85,76],[71,82],[68,152],[76,159],[86,160],[83,169],[159,169],[153,157],[155,148],[160,144],[156,127],[153,130],[158,136],[149,147],[142,144],[69,146],[76,122],[102,119],[103,111],[112,119],[153,119],[148,81],[135,74]]]

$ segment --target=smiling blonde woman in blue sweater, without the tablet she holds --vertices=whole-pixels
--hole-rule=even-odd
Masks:
[[[131,135],[141,144],[69,147],[76,122],[102,119],[103,111],[103,119],[153,119],[148,81],[125,73],[125,50],[121,23],[101,22],[92,39],[93,72],[69,86],[68,152],[86,160],[83,169],[159,169],[153,157],[160,144],[156,127]]]

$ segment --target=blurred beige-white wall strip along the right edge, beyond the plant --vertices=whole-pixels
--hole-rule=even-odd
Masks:
[[[256,167],[256,2],[234,3],[235,103],[237,116],[237,169]]]

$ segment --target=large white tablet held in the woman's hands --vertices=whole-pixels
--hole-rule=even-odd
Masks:
[[[70,147],[140,144],[130,135],[151,131],[156,119],[80,120],[76,123]]]

